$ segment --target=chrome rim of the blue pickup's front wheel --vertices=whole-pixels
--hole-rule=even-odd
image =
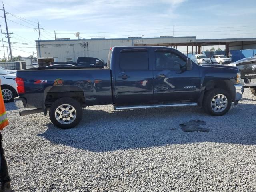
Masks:
[[[212,98],[212,110],[216,113],[224,111],[228,106],[228,99],[223,94],[218,94]]]

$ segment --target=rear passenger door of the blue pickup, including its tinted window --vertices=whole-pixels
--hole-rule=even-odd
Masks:
[[[153,98],[153,70],[149,69],[148,50],[123,49],[115,67],[118,105],[148,103]]]

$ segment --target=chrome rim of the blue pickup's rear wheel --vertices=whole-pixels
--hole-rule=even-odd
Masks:
[[[69,104],[62,104],[55,110],[55,118],[61,124],[70,124],[76,119],[76,109]]]

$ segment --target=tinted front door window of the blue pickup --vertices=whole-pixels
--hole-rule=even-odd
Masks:
[[[155,52],[156,69],[180,70],[186,69],[186,60],[172,52]]]

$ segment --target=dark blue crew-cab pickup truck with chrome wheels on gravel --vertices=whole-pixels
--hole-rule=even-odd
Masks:
[[[168,47],[113,47],[102,69],[33,68],[17,72],[20,115],[49,110],[59,128],[72,128],[82,108],[113,104],[114,110],[202,106],[213,116],[226,114],[242,98],[238,68],[199,66]]]

